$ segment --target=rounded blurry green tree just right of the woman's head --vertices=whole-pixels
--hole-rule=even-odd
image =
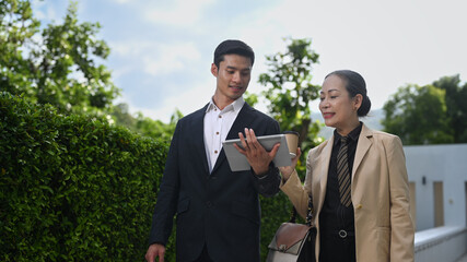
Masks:
[[[399,87],[383,107],[385,131],[399,135],[404,144],[453,143],[445,95],[434,85]]]

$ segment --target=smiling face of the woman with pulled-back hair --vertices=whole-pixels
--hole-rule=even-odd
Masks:
[[[341,135],[347,135],[360,124],[357,110],[362,104],[362,95],[350,97],[346,81],[340,76],[331,74],[326,78],[319,98],[319,110],[327,127],[336,128]]]

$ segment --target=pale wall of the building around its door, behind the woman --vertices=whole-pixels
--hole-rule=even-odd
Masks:
[[[404,151],[409,181],[416,183],[417,231],[434,227],[434,181],[443,181],[444,224],[465,227],[467,144],[411,145]]]

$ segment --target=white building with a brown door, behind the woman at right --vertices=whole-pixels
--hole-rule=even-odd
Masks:
[[[467,253],[467,144],[404,147],[416,221],[416,261]]]

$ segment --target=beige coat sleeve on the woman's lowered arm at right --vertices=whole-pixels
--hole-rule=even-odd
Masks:
[[[394,136],[387,148],[390,194],[390,261],[413,261],[415,228],[402,143]]]

